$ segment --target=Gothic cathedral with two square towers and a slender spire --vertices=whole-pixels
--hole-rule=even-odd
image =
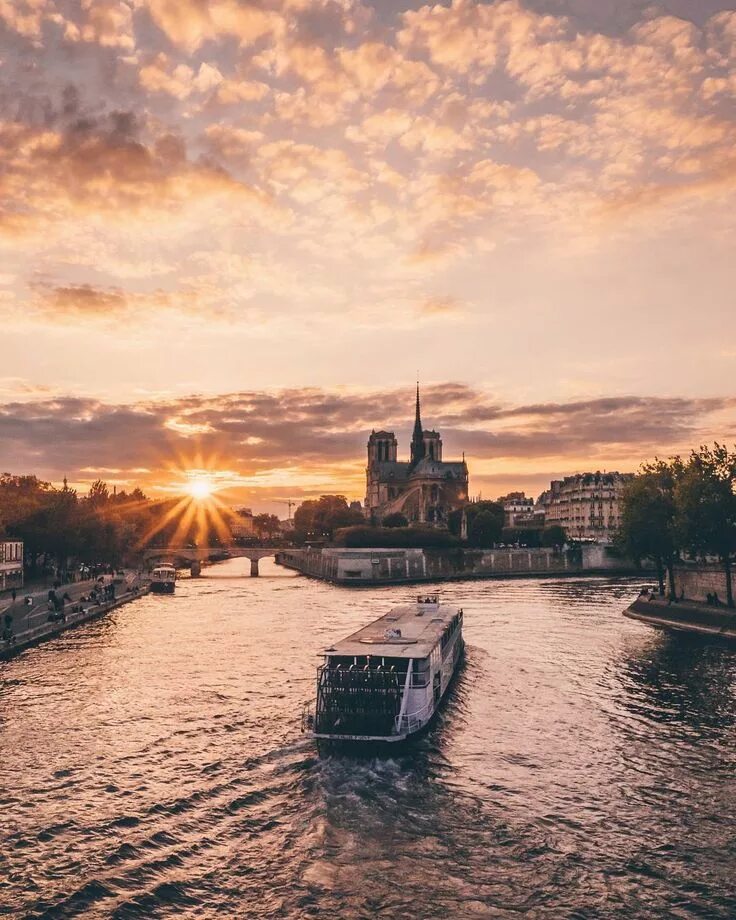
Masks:
[[[372,431],[368,439],[366,514],[380,524],[389,514],[403,514],[410,524],[446,527],[447,518],[468,499],[468,467],[462,460],[442,459],[442,439],[425,431],[419,407],[408,463],[397,460],[398,444],[392,431]]]

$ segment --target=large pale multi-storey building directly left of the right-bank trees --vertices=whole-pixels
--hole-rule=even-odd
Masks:
[[[578,473],[550,483],[539,496],[545,524],[559,524],[574,540],[610,543],[621,524],[621,499],[633,473]]]

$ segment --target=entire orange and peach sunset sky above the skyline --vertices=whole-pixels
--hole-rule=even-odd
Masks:
[[[736,2],[0,0],[0,468],[474,495],[736,440]]]

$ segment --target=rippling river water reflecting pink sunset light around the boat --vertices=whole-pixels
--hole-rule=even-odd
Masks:
[[[248,567],[0,664],[0,915],[736,916],[736,651],[623,618],[630,580],[444,585],[436,727],[320,758],[320,648],[416,589]]]

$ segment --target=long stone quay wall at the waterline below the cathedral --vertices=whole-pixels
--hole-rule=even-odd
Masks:
[[[552,549],[307,549],[286,550],[277,561],[305,575],[337,584],[375,585],[462,578],[575,574],[634,574],[631,563],[584,546],[582,552]]]

